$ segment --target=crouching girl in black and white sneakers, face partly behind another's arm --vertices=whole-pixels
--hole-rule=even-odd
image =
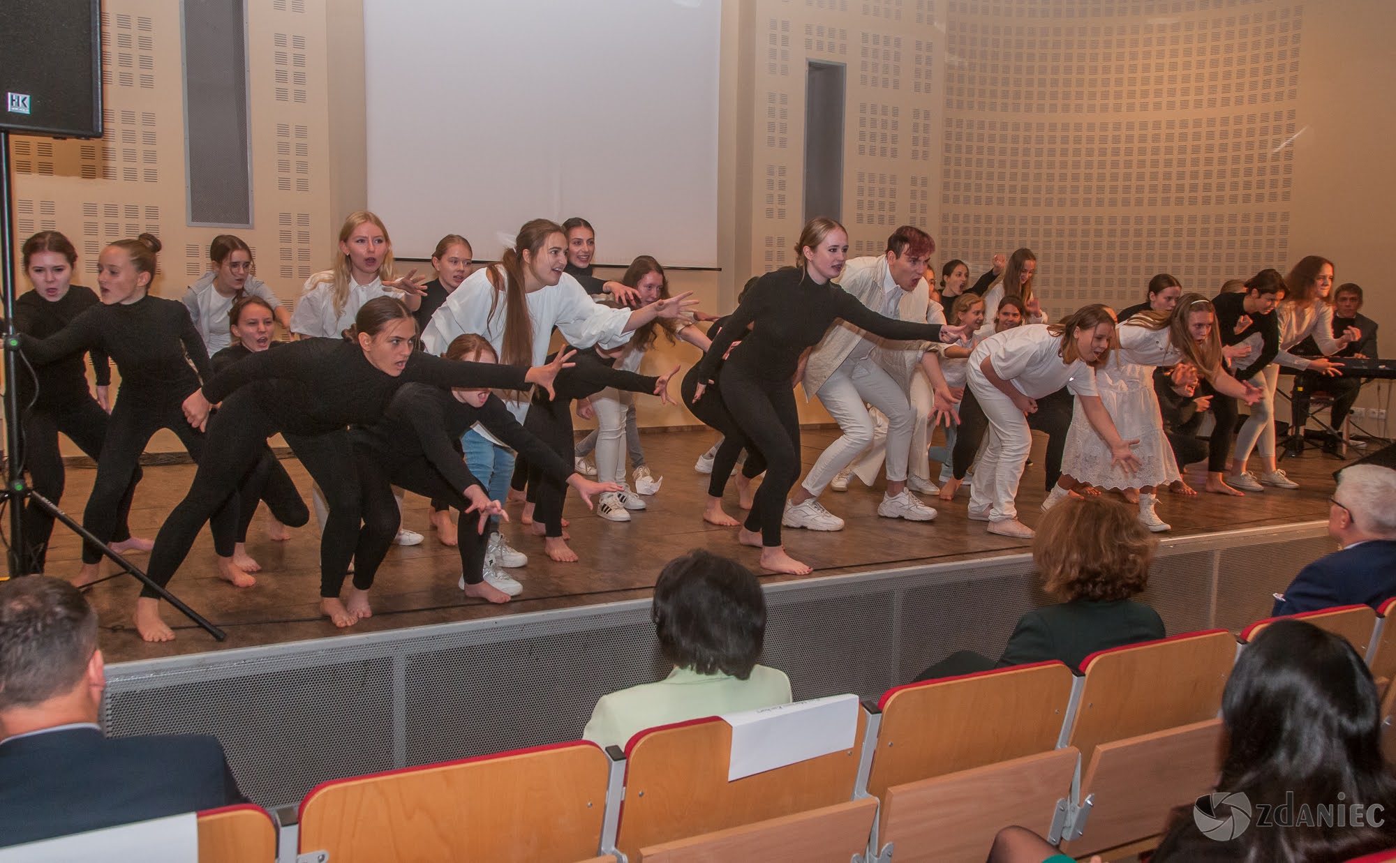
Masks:
[[[482,335],[456,337],[445,352],[451,360],[496,362],[494,348]],[[596,483],[572,471],[568,459],[524,430],[500,397],[489,390],[443,390],[406,384],[392,397],[388,412],[370,429],[355,430],[359,454],[359,483],[363,493],[363,529],[355,559],[355,585],[367,589],[398,532],[399,511],[392,486],[445,500],[459,514],[456,538],[461,547],[461,589],[489,602],[508,602],[524,591],[517,580],[487,560],[489,518],[508,521],[500,501],[490,500],[484,487],[466,468],[456,450],[461,436],[475,423],[505,445],[528,457],[529,464],[549,479],[578,490],[586,506],[617,483]],[[468,519],[479,512],[477,519]]]

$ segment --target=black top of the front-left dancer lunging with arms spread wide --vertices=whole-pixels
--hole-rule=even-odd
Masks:
[[[394,377],[374,367],[355,342],[309,338],[232,363],[204,384],[204,398],[216,404],[240,387],[265,381],[274,388],[265,404],[282,430],[322,434],[378,422],[402,384],[528,390],[525,374],[528,369],[521,366],[466,363],[413,351],[402,374]]]

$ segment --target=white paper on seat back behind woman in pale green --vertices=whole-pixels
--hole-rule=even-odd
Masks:
[[[859,732],[859,697],[829,695],[727,714],[732,761],[727,782],[852,748]]]

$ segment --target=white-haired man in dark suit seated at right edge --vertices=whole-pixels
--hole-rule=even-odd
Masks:
[[[1343,549],[1308,564],[1276,596],[1273,614],[1343,605],[1376,607],[1396,596],[1396,471],[1351,465],[1329,499],[1328,533]]]

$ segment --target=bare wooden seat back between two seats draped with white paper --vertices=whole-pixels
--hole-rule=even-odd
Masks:
[[[577,863],[597,855],[609,764],[575,742],[334,779],[300,804],[300,852],[334,863]]]

